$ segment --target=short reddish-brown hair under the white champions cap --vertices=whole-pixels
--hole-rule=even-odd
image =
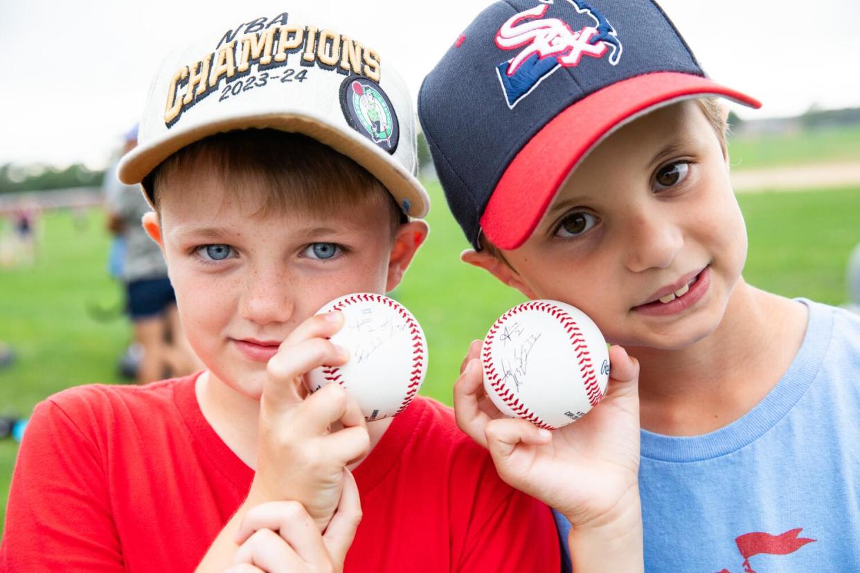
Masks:
[[[392,237],[408,220],[385,186],[358,163],[312,137],[273,129],[218,133],[170,155],[144,180],[156,212],[169,180],[202,169],[212,170],[237,198],[261,197],[255,216],[325,214],[369,201],[389,208]]]

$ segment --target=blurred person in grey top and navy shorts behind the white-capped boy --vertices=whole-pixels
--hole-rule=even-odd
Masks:
[[[123,155],[137,144],[137,127],[126,134]],[[116,165],[108,169],[103,184],[107,204],[107,229],[124,241],[112,247],[110,267],[126,285],[128,313],[134,341],[140,353],[140,384],[181,376],[200,368],[200,363],[179,322],[176,299],[167,276],[161,250],[140,224],[150,210],[138,186],[125,186],[116,177]]]

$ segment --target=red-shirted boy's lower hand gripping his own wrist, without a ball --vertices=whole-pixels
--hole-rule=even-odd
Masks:
[[[236,534],[230,573],[343,570],[361,521],[359,490],[344,470],[343,495],[325,533],[298,502],[269,502],[249,510]]]

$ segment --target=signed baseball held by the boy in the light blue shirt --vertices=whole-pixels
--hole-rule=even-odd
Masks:
[[[609,349],[580,309],[558,301],[524,302],[487,332],[484,388],[505,415],[555,430],[598,404],[609,381]]]

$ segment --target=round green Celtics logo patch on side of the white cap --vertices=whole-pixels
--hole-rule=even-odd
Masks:
[[[341,107],[347,123],[355,131],[394,153],[400,139],[400,125],[394,106],[377,82],[350,76],[341,84]]]

